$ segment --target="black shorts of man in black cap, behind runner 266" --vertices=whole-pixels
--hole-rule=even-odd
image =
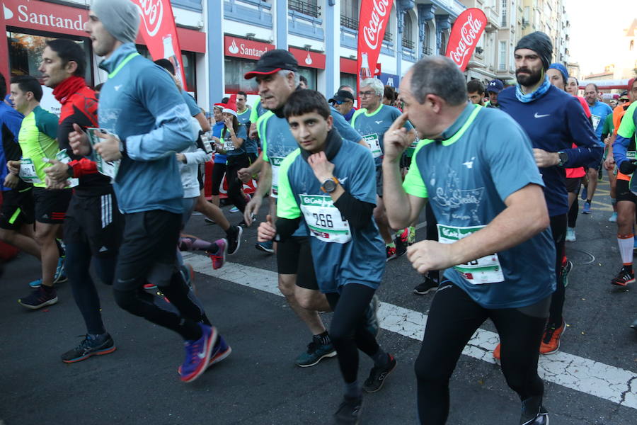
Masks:
[[[314,274],[314,262],[309,237],[293,236],[285,242],[277,243],[277,266],[279,274],[297,275],[297,286],[319,290]]]

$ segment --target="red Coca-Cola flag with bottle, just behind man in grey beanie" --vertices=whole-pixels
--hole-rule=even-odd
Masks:
[[[177,26],[170,0],[132,0],[139,7],[142,22],[139,32],[154,60],[167,59],[175,67],[175,74],[184,90],[188,90],[177,38]]]

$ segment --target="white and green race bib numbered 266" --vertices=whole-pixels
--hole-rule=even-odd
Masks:
[[[301,211],[312,236],[323,242],[346,244],[352,239],[350,224],[329,195],[301,195]]]

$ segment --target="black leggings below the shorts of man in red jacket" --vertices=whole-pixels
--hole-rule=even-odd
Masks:
[[[88,334],[103,334],[106,329],[100,312],[100,297],[89,273],[91,259],[98,278],[106,285],[113,285],[117,256],[101,258],[91,254],[91,246],[81,242],[67,242],[67,260],[64,268],[71,282],[73,297],[79,308]]]

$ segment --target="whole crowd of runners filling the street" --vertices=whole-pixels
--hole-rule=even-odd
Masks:
[[[137,53],[138,28],[130,1],[93,1],[85,30],[108,73],[99,91],[86,85],[86,55],[71,40],[47,42],[40,81],[0,76],[1,98],[10,87],[0,103],[0,240],[42,265],[23,307],[54,305],[56,285],[69,281],[86,336],[62,361],[115,351],[93,277],[113,286],[123,310],[182,336],[184,382],[222,361],[231,348],[180,252],[201,251],[221,268],[255,224],[256,249],[275,254],[280,291],[311,333],[295,363],[338,357],[336,423],[357,424],[363,392],[381,390],[396,368],[377,340],[375,293],[386,261],[406,254],[423,275],[413,292],[437,291],[415,361],[420,423],[447,421],[449,378],[491,319],[520,424],[549,424],[538,358],[559,349],[573,268],[566,242],[576,239],[580,191],[590,214],[602,167],[621,256],[609,283],[635,280],[634,79],[614,108],[595,84],[579,97],[578,81],[551,63],[549,37],[536,32],[515,46],[517,84],[506,88],[467,84],[451,60],[426,57],[398,91],[364,79],[358,93],[341,86],[323,96],[306,89],[289,52],[270,50],[244,76],[256,81],[258,102],[248,106],[239,92],[203,111],[171,62]],[[61,103],[59,118],[40,106],[40,82]],[[212,176],[203,172],[210,161]],[[243,214],[238,225],[219,208],[224,178],[227,201]],[[250,196],[243,188],[253,179]],[[269,212],[259,216],[265,198]],[[423,209],[426,239],[415,242]],[[195,210],[225,237],[183,233]],[[329,329],[319,312],[332,312]],[[365,380],[359,350],[374,363]]]

